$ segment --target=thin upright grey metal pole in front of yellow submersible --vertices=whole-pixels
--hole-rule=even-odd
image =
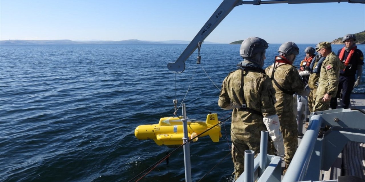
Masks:
[[[186,119],[186,107],[185,104],[181,104],[183,108],[183,143],[184,145],[184,162],[185,162],[185,182],[191,182],[191,165],[190,165],[190,145],[188,143],[188,121]]]

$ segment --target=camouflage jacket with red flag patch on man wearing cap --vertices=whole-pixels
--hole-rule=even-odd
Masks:
[[[338,56],[331,52],[327,55],[320,68],[319,84],[315,95],[324,96],[326,93],[336,96],[340,69],[343,68]]]

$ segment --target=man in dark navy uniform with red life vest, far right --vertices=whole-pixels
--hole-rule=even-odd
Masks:
[[[350,94],[354,87],[360,85],[362,65],[364,64],[364,54],[357,49],[354,41],[355,35],[347,34],[342,38],[345,47],[338,50],[337,55],[345,65],[345,69],[340,70],[340,78],[336,97],[331,99],[331,108],[337,108],[337,98],[340,97],[342,90],[342,108],[347,109],[350,106]],[[356,79],[357,72],[357,79]]]

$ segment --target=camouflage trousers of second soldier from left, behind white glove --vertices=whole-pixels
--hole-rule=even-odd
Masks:
[[[289,122],[286,121],[285,123]],[[291,121],[291,123],[289,124],[281,125],[280,131],[283,134],[284,138],[284,148],[285,148],[284,161],[285,164],[289,166],[298,146],[298,124],[295,121]]]

